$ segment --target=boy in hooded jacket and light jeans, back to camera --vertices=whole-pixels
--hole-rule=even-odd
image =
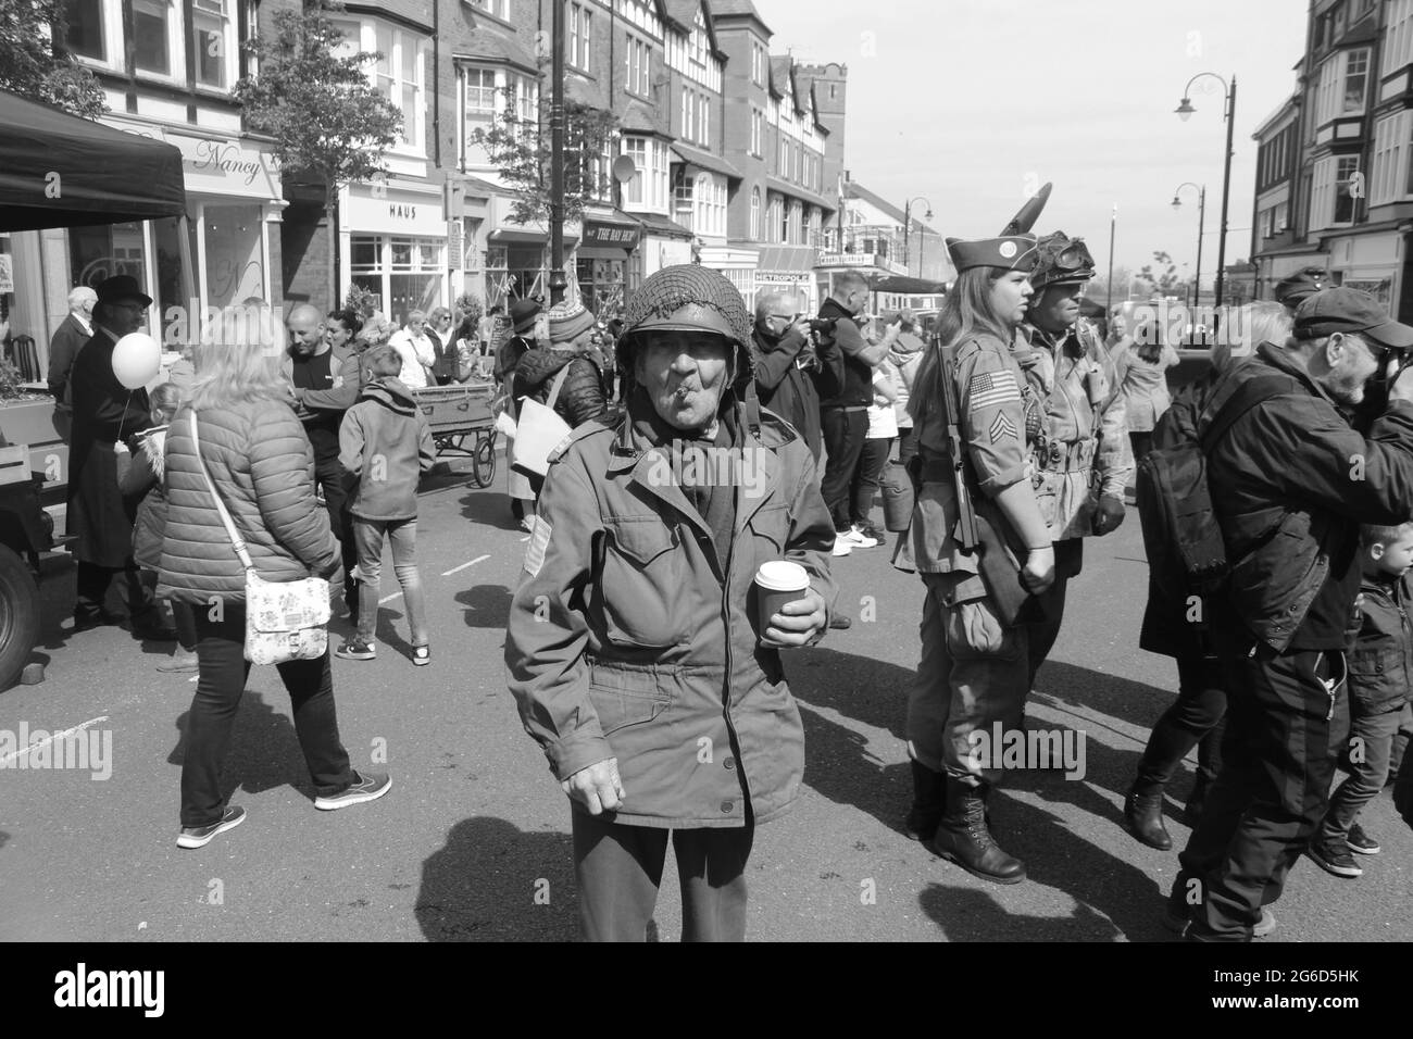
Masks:
[[[413,629],[413,663],[428,664],[427,604],[417,573],[417,481],[437,462],[437,447],[411,390],[397,380],[403,368],[397,349],[372,348],[365,366],[369,383],[339,427],[339,464],[359,478],[349,506],[357,546],[357,635],[335,652],[348,660],[372,660],[377,653],[373,638],[386,536]]]

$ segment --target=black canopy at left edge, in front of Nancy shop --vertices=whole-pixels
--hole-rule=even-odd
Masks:
[[[0,230],[187,212],[181,151],[0,90]]]

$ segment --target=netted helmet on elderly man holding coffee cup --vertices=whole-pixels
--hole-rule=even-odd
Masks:
[[[735,385],[753,377],[750,317],[726,276],[695,263],[663,267],[633,293],[623,310],[619,359],[633,375],[637,345],[649,332],[715,332],[736,348]]]

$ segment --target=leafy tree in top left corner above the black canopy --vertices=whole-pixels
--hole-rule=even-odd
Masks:
[[[0,90],[69,115],[107,112],[97,78],[68,52],[64,0],[0,0]]]

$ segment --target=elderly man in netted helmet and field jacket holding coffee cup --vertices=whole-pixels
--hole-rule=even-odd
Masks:
[[[644,940],[668,833],[682,937],[743,939],[755,826],[800,792],[780,650],[828,626],[834,526],[808,445],[756,401],[749,344],[706,267],[633,294],[626,411],[551,454],[510,608],[510,690],[571,802],[592,940]],[[766,563],[798,595],[762,616]]]

